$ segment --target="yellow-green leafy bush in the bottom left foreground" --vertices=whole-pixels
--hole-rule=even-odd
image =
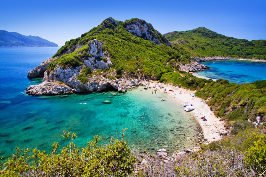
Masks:
[[[69,145],[60,153],[58,142],[52,145],[51,154],[34,149],[29,156],[29,149],[22,153],[16,148],[13,158],[4,165],[1,162],[0,176],[127,176],[132,172],[135,158],[125,140],[112,137],[107,145],[98,146],[101,137],[95,135],[85,148],[79,148],[72,142],[76,133],[64,131],[62,137]]]

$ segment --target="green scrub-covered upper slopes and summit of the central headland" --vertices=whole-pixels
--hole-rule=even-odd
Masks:
[[[134,30],[133,26],[139,28],[137,33],[130,32]],[[184,55],[184,52],[176,47],[171,48],[170,42],[144,20],[134,18],[121,22],[107,18],[81,37],[67,41],[53,56],[59,58],[52,62],[48,69],[53,70],[58,63],[73,66],[82,64],[83,59],[79,58],[77,53],[87,50],[88,42],[94,39],[101,42],[103,51],[110,54],[111,68],[118,74],[160,78],[163,73],[177,68],[178,63],[189,63],[191,60],[189,55]],[[83,47],[66,54],[76,45]]]

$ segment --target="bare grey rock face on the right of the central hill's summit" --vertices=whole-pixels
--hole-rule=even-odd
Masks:
[[[135,23],[126,25],[128,32],[133,35],[142,37],[143,39],[153,41],[154,43],[161,45],[161,42],[165,42],[168,46],[172,47],[171,43],[162,36],[158,31],[155,31],[151,24],[147,24],[144,20],[135,20]],[[161,37],[163,39],[161,39]]]

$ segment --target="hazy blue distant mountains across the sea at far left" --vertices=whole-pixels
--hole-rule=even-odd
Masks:
[[[0,47],[58,47],[39,36],[25,36],[17,32],[0,30]]]

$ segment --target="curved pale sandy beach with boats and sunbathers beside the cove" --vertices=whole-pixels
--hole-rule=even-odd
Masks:
[[[157,82],[150,83],[151,88],[154,90],[153,86],[155,86]],[[160,83],[159,83],[160,84]],[[208,142],[213,142],[216,140],[222,139],[222,136],[219,135],[219,132],[222,132],[225,130],[223,121],[220,121],[219,118],[217,118],[214,113],[210,110],[210,107],[205,104],[201,103],[202,99],[194,96],[192,97],[191,94],[195,94],[196,91],[186,90],[183,88],[175,87],[172,85],[165,85],[160,84],[161,86],[164,86],[163,89],[158,89],[158,91],[162,91],[166,88],[167,94],[170,96],[173,92],[169,91],[171,88],[176,95],[172,96],[176,100],[176,104],[179,104],[181,106],[187,105],[187,104],[193,104],[194,110],[190,111],[192,116],[198,121],[202,128],[202,132],[205,138],[208,139]],[[180,91],[182,91],[182,94],[180,94]],[[191,99],[192,98],[192,99]],[[203,100],[205,101],[205,100]],[[200,117],[205,116],[207,121],[203,121],[200,119]]]

